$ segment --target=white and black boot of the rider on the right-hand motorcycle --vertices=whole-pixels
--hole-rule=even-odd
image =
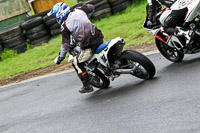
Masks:
[[[190,43],[192,34],[193,34],[192,30],[184,30],[181,27],[176,27],[176,31],[174,33],[175,36],[184,36],[186,38],[186,45]]]

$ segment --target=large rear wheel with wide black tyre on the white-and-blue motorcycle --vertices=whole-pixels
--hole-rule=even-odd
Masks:
[[[154,77],[156,69],[154,64],[143,54],[126,50],[120,55],[121,67],[132,69],[131,74],[141,79],[151,79]]]

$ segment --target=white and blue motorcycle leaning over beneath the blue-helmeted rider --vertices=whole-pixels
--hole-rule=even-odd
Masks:
[[[110,85],[121,74],[131,74],[141,79],[154,77],[156,69],[154,64],[143,54],[126,50],[122,51],[125,42],[120,37],[101,44],[93,57],[85,62],[90,82],[94,87],[103,89]],[[78,43],[71,42],[68,61],[80,54]]]

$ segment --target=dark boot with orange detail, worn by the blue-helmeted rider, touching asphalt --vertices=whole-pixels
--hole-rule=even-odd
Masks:
[[[89,93],[89,92],[94,91],[92,85],[90,84],[90,81],[89,81],[90,78],[87,72],[79,74],[79,78],[81,79],[83,83],[83,87],[79,90],[80,93]]]

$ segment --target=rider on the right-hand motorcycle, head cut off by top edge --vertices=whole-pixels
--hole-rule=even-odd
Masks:
[[[184,36],[186,38],[186,44],[188,44],[192,36],[192,31],[185,30],[176,25],[183,22],[187,13],[187,4],[190,1],[191,0],[147,0],[149,3],[149,20],[152,24],[155,23],[156,5],[165,5],[169,10],[165,10],[160,17],[162,31],[168,35]]]

